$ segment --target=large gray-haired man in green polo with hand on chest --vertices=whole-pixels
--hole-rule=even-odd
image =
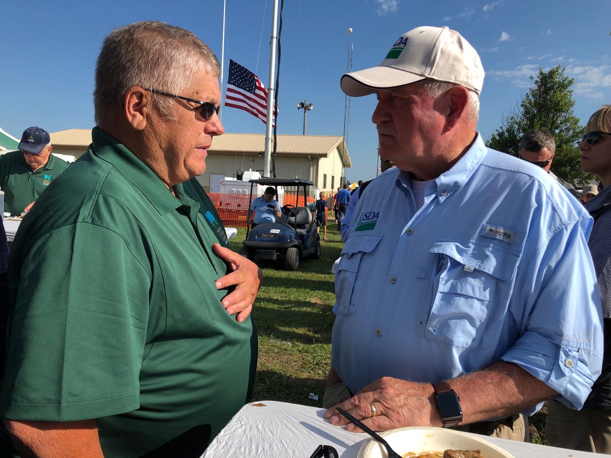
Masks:
[[[260,270],[189,182],[224,133],[219,74],[180,27],[104,40],[92,145],[10,255],[0,456],[199,457],[249,401]]]

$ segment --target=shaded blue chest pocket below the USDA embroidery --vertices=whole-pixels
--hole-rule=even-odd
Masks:
[[[362,267],[363,256],[371,253],[383,236],[350,236],[342,250],[342,258],[335,269],[335,297],[337,297],[337,313],[353,315],[356,313],[355,294],[356,274]],[[367,272],[360,272],[367,276]],[[361,278],[363,278],[361,276]]]

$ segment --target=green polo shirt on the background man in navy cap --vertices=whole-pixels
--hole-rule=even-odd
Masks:
[[[4,211],[10,212],[11,216],[20,215],[68,165],[51,154],[45,165],[32,172],[21,151],[2,154],[0,187],[4,191]]]

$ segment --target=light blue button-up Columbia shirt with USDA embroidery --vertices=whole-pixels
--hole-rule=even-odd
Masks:
[[[592,219],[538,167],[478,135],[418,209],[389,170],[360,196],[335,271],[332,366],[439,382],[515,363],[579,409],[601,371]]]

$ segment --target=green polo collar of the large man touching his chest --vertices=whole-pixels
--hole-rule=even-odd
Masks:
[[[159,176],[119,140],[104,133],[98,127],[93,128],[91,137],[93,140],[89,146],[91,153],[113,165],[126,180],[142,192],[161,216],[182,206],[181,199],[184,200],[184,205],[191,206],[194,203],[185,196],[180,184],[174,187],[175,192],[177,189],[180,190],[176,193],[180,198],[174,197]]]

